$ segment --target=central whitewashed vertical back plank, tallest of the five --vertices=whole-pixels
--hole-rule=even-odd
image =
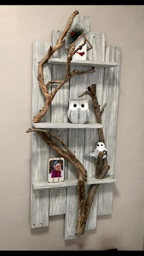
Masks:
[[[74,18],[71,29],[76,24],[84,27],[89,31],[90,19],[87,16],[77,15]],[[76,67],[71,65],[71,70],[88,70],[89,67]],[[84,93],[87,89],[87,74],[74,76],[70,81],[70,94],[71,100],[76,99]],[[85,97],[87,98],[87,97]],[[76,155],[76,157],[84,164],[84,143],[85,143],[85,129],[70,129],[68,131],[68,147]],[[77,170],[68,162],[67,178],[77,177]],[[65,240],[79,238],[76,235],[76,224],[78,216],[78,195],[76,188],[67,188],[67,206],[65,214]]]

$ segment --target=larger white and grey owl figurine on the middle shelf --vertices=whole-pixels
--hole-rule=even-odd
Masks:
[[[89,122],[88,100],[70,100],[68,108],[68,119],[71,123]]]

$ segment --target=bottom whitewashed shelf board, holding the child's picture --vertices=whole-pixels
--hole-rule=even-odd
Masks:
[[[56,183],[48,183],[48,181],[34,181],[32,183],[33,189],[49,189],[49,188],[64,188],[64,187],[70,187],[70,186],[77,186],[77,178],[71,178],[71,179],[65,179],[62,182],[56,182]],[[117,178],[113,176],[107,176],[103,179],[97,179],[89,177],[87,178],[87,181],[85,185],[91,185],[91,184],[103,184],[103,183],[114,183],[117,181]]]

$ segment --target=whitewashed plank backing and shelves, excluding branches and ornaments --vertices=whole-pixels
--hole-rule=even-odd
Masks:
[[[81,20],[81,17],[79,17],[79,19]],[[82,22],[83,21],[88,27],[88,18],[84,18],[84,16],[82,16]],[[53,43],[56,43],[59,35],[60,31],[53,31]],[[99,186],[99,191],[93,201],[85,230],[96,228],[97,209],[99,215],[112,213],[112,183],[117,179],[111,178],[111,180],[103,179],[103,181],[97,181],[94,178],[96,161],[92,158],[84,158],[84,154],[93,150],[96,147],[96,142],[98,142],[98,134],[96,130],[98,126],[96,127],[94,125],[96,120],[92,102],[89,101],[90,122],[92,122],[92,124],[77,126],[68,123],[68,98],[78,98],[79,95],[87,90],[87,86],[90,86],[90,84],[97,84],[98,102],[101,105],[101,108],[104,103],[107,103],[103,113],[103,130],[108,150],[107,158],[110,165],[109,175],[113,177],[115,170],[118,93],[120,85],[120,66],[118,65],[120,65],[121,62],[121,48],[117,48],[115,46],[107,46],[105,57],[106,40],[103,33],[89,32],[88,40],[92,43],[93,49],[88,51],[87,61],[91,61],[91,64],[93,64],[93,62],[97,62],[97,65],[100,64],[100,66],[96,67],[95,73],[74,76],[69,83],[65,84],[65,86],[57,92],[56,97],[54,97],[52,102],[51,109],[49,109],[41,122],[33,123],[34,127],[37,126],[36,128],[53,128],[52,132],[59,135],[81,163],[84,164],[88,174],[86,191],[90,184],[106,183]],[[43,103],[45,101],[42,93],[40,92],[37,81],[37,67],[38,61],[45,56],[50,45],[51,43],[40,41],[34,42],[32,117],[43,107]],[[59,49],[59,51],[57,51],[52,57],[56,59],[65,59],[65,49]],[[51,79],[59,80],[65,75],[65,65],[57,65],[56,62],[53,63],[52,70],[51,64],[45,65],[44,76],[46,81],[50,81]],[[110,67],[113,63],[115,63],[115,65],[118,64],[118,67],[112,66],[111,68],[104,69],[104,67]],[[103,66],[101,64],[107,66]],[[87,63],[85,63],[84,67],[82,65],[80,67],[79,64],[76,66],[71,65],[71,70],[87,70],[88,67],[86,65]],[[54,87],[55,85],[52,85],[52,89],[54,89]],[[51,87],[49,88],[51,90]],[[63,97],[63,95],[65,97]],[[84,99],[85,98],[88,97],[84,97]],[[57,122],[59,125],[57,125]],[[68,128],[74,129],[68,130]],[[78,209],[77,170],[74,169],[72,164],[65,161],[65,178],[68,178],[68,180],[66,179],[60,184],[57,183],[57,185],[54,183],[47,183],[48,158],[52,156],[54,157],[57,155],[53,150],[45,145],[45,142],[43,142],[36,133],[32,134],[31,227],[46,227],[48,226],[49,214],[56,215],[66,213],[65,240],[76,239],[79,238],[79,236],[76,235]]]

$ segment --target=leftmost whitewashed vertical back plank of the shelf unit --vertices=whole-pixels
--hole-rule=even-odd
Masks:
[[[32,81],[32,119],[38,111],[43,108],[45,99],[38,84],[38,61],[46,54],[51,43],[34,41],[33,48],[33,81]],[[51,80],[51,65],[46,64],[43,70],[45,82]],[[42,122],[50,121],[47,113]],[[49,149],[45,142],[32,134],[32,156],[31,156],[31,181],[48,180],[48,155]],[[31,228],[48,226],[49,218],[49,191],[33,191],[31,186]]]

